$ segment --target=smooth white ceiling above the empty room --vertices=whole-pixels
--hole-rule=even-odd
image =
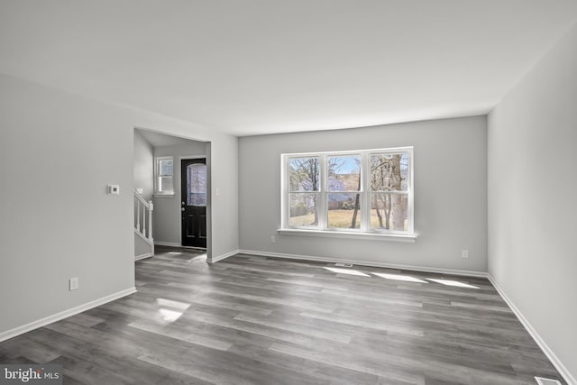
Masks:
[[[0,72],[234,135],[481,115],[575,0],[1,0]]]

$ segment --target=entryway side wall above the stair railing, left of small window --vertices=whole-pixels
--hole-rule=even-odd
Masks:
[[[151,143],[134,130],[134,188],[142,188],[144,200],[151,201],[154,192],[154,151]]]

